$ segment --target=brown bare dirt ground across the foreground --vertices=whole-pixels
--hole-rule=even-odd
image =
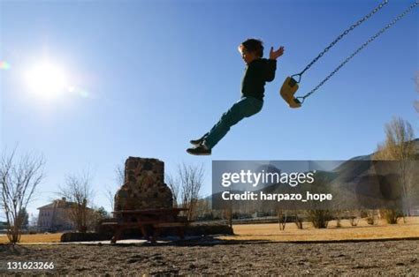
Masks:
[[[186,245],[0,245],[7,262],[53,262],[60,274],[419,274],[419,240],[357,243],[189,242]]]

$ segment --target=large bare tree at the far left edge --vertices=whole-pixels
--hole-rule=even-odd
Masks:
[[[16,149],[9,155],[4,153],[0,160],[1,204],[7,221],[7,238],[11,243],[19,243],[24,224],[22,212],[42,182],[45,164],[42,156],[32,154],[25,154],[15,162],[15,153]]]

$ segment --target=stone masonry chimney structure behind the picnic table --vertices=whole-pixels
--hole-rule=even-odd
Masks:
[[[171,208],[171,190],[164,183],[164,162],[129,157],[125,181],[115,195],[115,211]]]

